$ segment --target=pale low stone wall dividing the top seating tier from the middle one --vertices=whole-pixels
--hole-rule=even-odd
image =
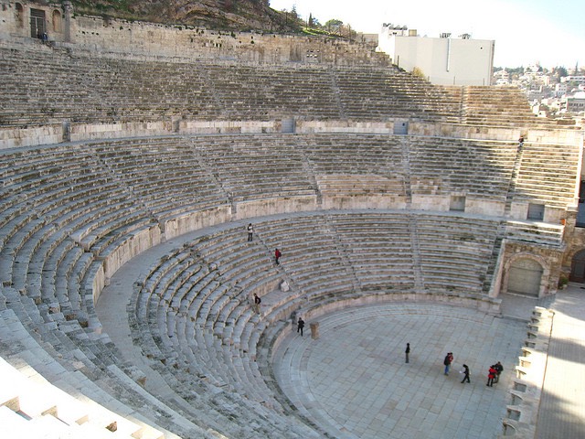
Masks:
[[[321,120],[295,121],[294,132],[309,133],[371,133],[394,134],[395,120],[386,121],[351,121],[351,120]],[[457,137],[468,139],[489,139],[505,141],[516,139],[519,130],[508,128],[489,128],[477,132],[473,127],[447,123],[418,123],[409,122],[409,134],[431,135],[443,137]],[[70,123],[46,124],[42,126],[0,126],[0,150],[20,146],[48,145],[61,142],[78,142],[97,139],[114,139],[121,137],[142,137],[168,134],[250,134],[250,133],[282,133],[282,120],[274,121],[201,121],[201,120],[173,120],[163,118],[157,122],[125,122],[125,123]],[[546,138],[542,132],[533,134],[527,131],[527,139],[543,141],[558,145],[582,145],[583,133],[574,131],[550,131]],[[517,209],[527,209],[518,207]],[[526,212],[517,212],[515,218],[526,218]],[[550,221],[558,222],[558,215]],[[558,219],[557,219],[558,217]]]

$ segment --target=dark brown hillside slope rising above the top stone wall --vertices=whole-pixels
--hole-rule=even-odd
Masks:
[[[297,30],[269,0],[73,0],[78,14],[115,16],[215,29],[286,32]]]

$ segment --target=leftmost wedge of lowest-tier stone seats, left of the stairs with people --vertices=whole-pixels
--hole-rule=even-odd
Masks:
[[[226,297],[230,301],[235,297],[230,297],[229,292],[220,287],[214,271],[209,272],[207,266],[195,259],[191,249],[182,249],[152,267],[153,272],[136,295],[136,319],[140,322],[140,329],[134,337],[141,339],[147,357],[164,361],[165,364],[161,362],[157,369],[164,372],[165,380],[176,389],[177,394],[197,390],[201,398],[207,395],[210,399],[216,399],[216,395],[221,393],[229,402],[230,423],[236,421],[236,416],[243,417],[238,422],[244,424],[250,423],[250,418],[254,419],[257,425],[252,428],[258,429],[257,434],[262,434],[259,420],[270,419],[269,435],[297,437],[294,429],[288,431],[290,420],[286,421],[282,408],[266,390],[255,368],[254,354],[243,343],[222,340],[217,327],[214,327],[216,322],[209,314],[210,308]],[[212,276],[208,276],[209,273]],[[193,277],[197,282],[193,281]],[[195,294],[193,289],[197,290]],[[165,294],[162,302],[160,294]],[[169,305],[169,301],[170,304],[180,303],[180,308],[177,310],[176,305]],[[251,314],[247,300],[245,303],[239,312],[239,320],[259,330],[258,316]],[[168,314],[166,319],[165,314]],[[249,322],[250,316],[252,321]],[[250,335],[250,338],[253,337]],[[200,410],[209,416],[214,412],[216,417],[226,416],[213,403]],[[302,434],[300,430],[298,437]]]

